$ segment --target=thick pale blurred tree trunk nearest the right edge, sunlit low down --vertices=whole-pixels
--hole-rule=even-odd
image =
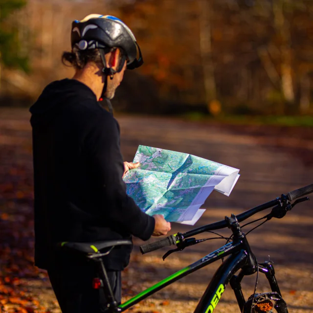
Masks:
[[[281,53],[281,90],[288,102],[294,102],[292,81],[292,52],[290,25],[284,15],[284,7],[289,0],[273,0],[274,27],[280,42]]]

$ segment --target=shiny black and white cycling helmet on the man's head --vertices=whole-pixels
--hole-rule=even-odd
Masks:
[[[128,69],[143,64],[141,51],[133,32],[124,22],[111,15],[90,14],[81,21],[73,21],[71,45],[73,51],[118,47],[124,54],[124,60],[127,60]],[[124,64],[125,61],[121,63]],[[117,71],[119,70],[121,68]]]

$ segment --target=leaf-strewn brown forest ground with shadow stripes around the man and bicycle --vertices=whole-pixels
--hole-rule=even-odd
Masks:
[[[29,113],[0,109],[0,313],[60,313],[45,271],[33,266],[33,179]],[[139,144],[208,158],[240,169],[230,197],[213,193],[196,226],[270,201],[281,193],[313,183],[313,128],[225,125],[181,119],[117,116],[124,159],[131,161]],[[257,217],[261,217],[258,215]],[[249,226],[247,226],[248,229]],[[313,312],[313,206],[298,205],[281,220],[272,220],[248,235],[258,261],[274,262],[276,277],[291,313]],[[250,227],[252,228],[252,227]],[[171,233],[191,226],[172,224]],[[227,230],[222,234],[229,234]],[[209,235],[203,235],[209,237]],[[165,262],[166,249],[134,253],[123,272],[123,299],[150,287],[215,248],[222,241],[186,248]],[[145,313],[193,312],[220,262],[184,277],[129,310]],[[256,275],[243,281],[253,293]],[[257,292],[268,291],[259,275]],[[214,312],[238,312],[228,287]]]

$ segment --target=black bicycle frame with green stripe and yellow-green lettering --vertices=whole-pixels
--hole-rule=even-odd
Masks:
[[[226,261],[215,272],[211,282],[204,291],[201,300],[194,311],[194,313],[212,313],[217,306],[222,294],[230,283],[231,288],[234,290],[239,308],[243,312],[244,305],[246,303],[243,293],[241,291],[240,282],[245,275],[254,273],[256,269],[256,263],[253,262],[254,256],[250,251],[250,247],[244,237],[238,242],[230,242],[219,249],[207,254],[195,263],[180,269],[176,273],[166,277],[154,286],[138,293],[133,298],[120,304],[117,308],[110,306],[109,312],[124,312],[136,303],[142,301],[155,292],[165,288],[166,286],[174,283],[180,278],[191,274],[192,272],[203,268],[209,264],[212,264],[226,256],[230,255]],[[252,260],[252,262],[251,262]],[[272,291],[276,291],[280,294],[278,284],[274,276],[274,269],[271,263],[264,263],[259,265],[259,271],[266,274]],[[238,276],[235,273],[242,269]],[[111,311],[110,311],[111,310]],[[287,310],[287,309],[286,309]],[[288,313],[288,311],[280,311],[279,313]]]

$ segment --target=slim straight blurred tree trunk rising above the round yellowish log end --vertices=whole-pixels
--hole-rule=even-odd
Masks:
[[[216,83],[214,77],[214,65],[212,61],[210,1],[198,0],[200,22],[200,50],[204,80],[205,102],[209,105],[216,99]]]

